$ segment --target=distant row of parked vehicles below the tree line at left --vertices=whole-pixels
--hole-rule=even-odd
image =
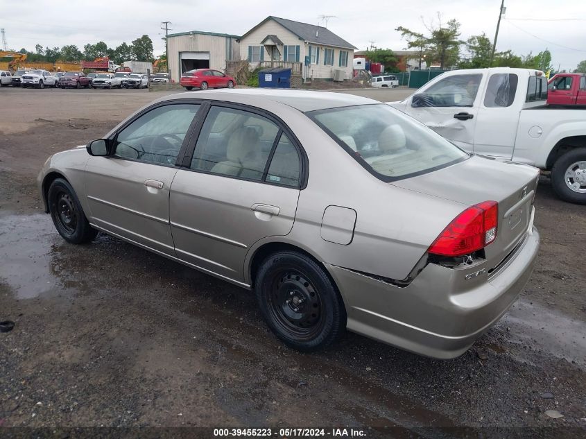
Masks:
[[[168,74],[155,74],[151,76],[153,83],[169,82]],[[11,74],[8,70],[0,71],[0,87],[12,85],[12,87],[61,87],[61,88],[146,88],[148,87],[148,75],[133,74],[130,72],[117,72],[116,74],[92,72],[84,74],[83,71],[59,71],[51,73],[42,69],[17,70]]]

